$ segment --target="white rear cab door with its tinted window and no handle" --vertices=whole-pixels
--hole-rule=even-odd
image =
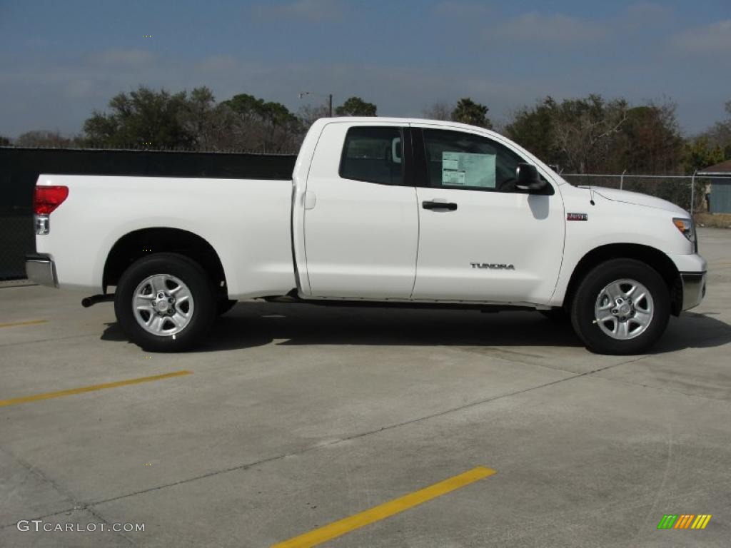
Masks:
[[[304,200],[311,297],[410,297],[419,230],[411,162],[403,125],[325,126]]]

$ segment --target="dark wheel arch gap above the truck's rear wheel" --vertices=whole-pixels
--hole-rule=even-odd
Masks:
[[[115,286],[124,270],[143,256],[170,252],[197,262],[211,276],[216,287],[226,292],[226,275],[219,254],[208,240],[193,232],[170,227],[153,227],[128,232],[120,237],[107,254],[102,275],[102,289]]]

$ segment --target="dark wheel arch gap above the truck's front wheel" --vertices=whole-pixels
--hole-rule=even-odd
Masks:
[[[654,268],[662,276],[670,293],[670,312],[673,313],[673,316],[678,316],[681,313],[683,285],[678,268],[675,267],[673,260],[667,254],[657,248],[639,243],[609,243],[588,251],[577,262],[571,278],[569,278],[564,297],[564,307],[570,307],[580,282],[589,270],[610,259],[635,259]]]

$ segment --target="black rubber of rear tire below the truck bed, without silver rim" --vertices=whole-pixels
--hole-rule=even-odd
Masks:
[[[135,290],[145,278],[156,274],[175,276],[185,283],[192,295],[192,315],[185,327],[175,335],[154,335],[143,329],[135,318],[132,306]],[[158,253],[137,260],[124,271],[114,295],[114,311],[125,334],[143,349],[153,352],[183,351],[199,343],[216,318],[216,290],[197,262],[175,253]]]

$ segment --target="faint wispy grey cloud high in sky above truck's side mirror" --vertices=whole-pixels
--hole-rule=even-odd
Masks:
[[[593,21],[530,12],[489,28],[485,36],[521,44],[566,46],[602,42],[608,34],[609,28]]]

